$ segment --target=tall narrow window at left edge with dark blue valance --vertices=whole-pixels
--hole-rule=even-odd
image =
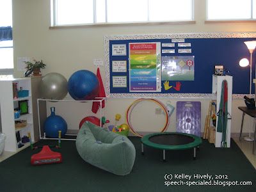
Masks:
[[[13,42],[9,35],[12,28],[7,26],[12,26],[12,1],[3,0],[0,6],[0,70],[13,68]]]

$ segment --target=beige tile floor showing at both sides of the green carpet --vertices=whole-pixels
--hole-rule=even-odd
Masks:
[[[244,140],[239,141],[239,138],[234,138],[234,141],[236,141],[237,145],[241,148],[244,155],[248,158],[248,160],[252,163],[252,165],[256,169],[256,148],[255,148],[255,154],[253,154],[252,153],[253,142],[244,141]],[[0,162],[4,161],[4,159],[7,159],[10,156],[13,156],[14,154],[15,152],[4,151],[3,154],[0,156]]]

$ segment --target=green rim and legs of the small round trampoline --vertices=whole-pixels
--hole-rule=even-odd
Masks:
[[[190,138],[193,138],[194,141],[188,144],[184,145],[161,145],[158,143],[153,143],[152,141],[149,140],[152,136],[157,136],[157,135],[164,135],[164,134],[177,134],[177,135],[182,135],[182,136],[189,136]],[[194,148],[193,152],[193,159],[196,159],[196,147],[199,147],[199,145],[202,143],[202,139],[198,136],[195,136],[193,134],[188,134],[188,133],[183,133],[183,132],[155,132],[152,134],[147,134],[141,138],[141,154],[144,154],[144,146],[147,145],[148,147],[153,147],[157,149],[163,150],[163,161],[166,161],[165,158],[165,150],[186,150],[189,148]]]

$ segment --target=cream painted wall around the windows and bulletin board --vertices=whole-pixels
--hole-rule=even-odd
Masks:
[[[104,59],[104,35],[133,35],[161,33],[204,33],[204,32],[256,32],[255,22],[205,24],[205,0],[195,0],[196,24],[151,24],[136,26],[86,26],[84,28],[49,29],[50,0],[13,0],[13,47],[15,76],[22,77],[17,71],[17,57],[28,56],[44,60],[47,64],[43,74],[59,72],[67,79],[80,69],[96,72],[93,59]],[[101,68],[102,79],[105,78]],[[211,86],[211,85],[209,85]],[[178,99],[169,99],[175,106]],[[179,99],[180,100],[180,99]],[[184,100],[184,99],[182,99]],[[188,100],[188,99],[185,99]],[[207,99],[193,99],[202,102],[202,131],[209,106]],[[129,99],[108,99],[106,116],[113,121],[116,113],[124,117]],[[241,112],[237,106],[244,106],[243,100],[233,100],[232,132],[239,132]],[[64,116],[74,116],[65,111]],[[74,110],[71,110],[74,111]],[[78,111],[82,114],[81,111]],[[175,113],[173,113],[175,114]],[[72,119],[70,119],[72,121]],[[122,121],[125,122],[124,118]],[[146,120],[141,120],[145,122]],[[245,132],[250,120],[245,120]],[[74,125],[70,125],[73,126]],[[147,127],[144,128],[147,131]],[[170,131],[175,130],[175,115],[171,117]]]

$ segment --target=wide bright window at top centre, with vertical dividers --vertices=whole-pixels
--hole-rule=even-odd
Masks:
[[[52,0],[52,26],[193,20],[193,0]]]

